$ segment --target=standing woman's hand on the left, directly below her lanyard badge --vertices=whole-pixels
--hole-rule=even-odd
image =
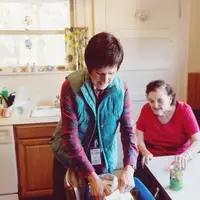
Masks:
[[[111,194],[109,186],[107,186],[95,172],[92,172],[88,176],[88,181],[90,184],[92,199],[104,200],[105,196]]]

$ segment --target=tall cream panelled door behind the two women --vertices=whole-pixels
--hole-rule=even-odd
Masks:
[[[146,102],[146,85],[152,80],[165,80],[173,86],[178,99],[185,98],[187,2],[94,0],[95,33],[113,33],[124,49],[118,75],[129,86],[134,123]]]

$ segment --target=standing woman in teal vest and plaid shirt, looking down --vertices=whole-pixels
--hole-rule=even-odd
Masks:
[[[71,73],[62,85],[61,120],[52,138],[54,200],[66,200],[64,177],[68,169],[85,177],[90,198],[104,200],[111,193],[98,175],[112,173],[116,168],[118,125],[124,153],[123,158],[119,157],[124,167],[118,189],[124,193],[136,188],[140,200],[154,199],[134,178],[138,149],[131,100],[126,83],[117,76],[123,56],[123,48],[114,35],[98,33],[85,50],[87,68]]]

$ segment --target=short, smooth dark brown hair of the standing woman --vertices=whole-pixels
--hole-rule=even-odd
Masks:
[[[94,35],[85,49],[85,63],[89,72],[93,69],[115,65],[119,69],[123,57],[124,51],[119,40],[106,32]]]

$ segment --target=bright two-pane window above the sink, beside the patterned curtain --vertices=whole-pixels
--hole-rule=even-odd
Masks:
[[[69,0],[0,0],[0,68],[65,65]]]

